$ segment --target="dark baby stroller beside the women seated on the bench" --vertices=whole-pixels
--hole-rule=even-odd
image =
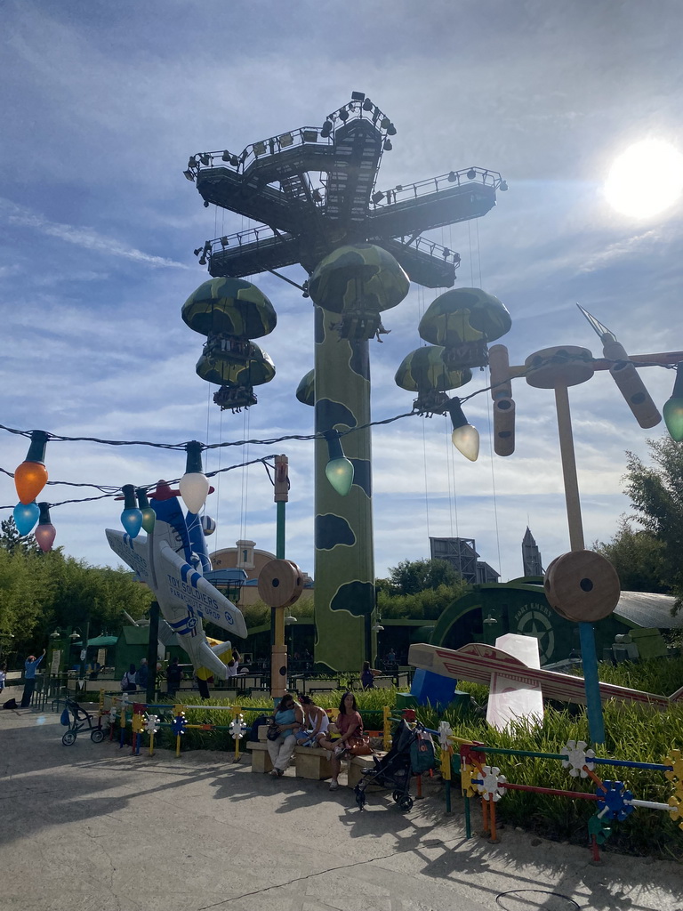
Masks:
[[[402,810],[413,809],[410,782],[411,775],[419,775],[436,764],[432,737],[420,722],[409,724],[401,721],[393,734],[392,749],[379,759],[374,759],[374,769],[363,772],[362,781],[356,784],[356,804],[365,806],[365,789],[368,784],[377,784],[392,789],[394,803]]]

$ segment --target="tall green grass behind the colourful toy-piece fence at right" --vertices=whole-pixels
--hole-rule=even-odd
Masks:
[[[601,680],[621,686],[671,693],[683,683],[683,660],[643,661],[617,667],[601,664],[599,674]],[[487,688],[477,684],[460,683],[458,687],[469,691],[480,705],[488,696]],[[596,746],[597,756],[663,763],[672,750],[683,750],[683,703],[658,711],[636,703],[609,701],[603,714],[605,743]],[[489,727],[481,711],[463,715],[462,712],[438,713],[423,708],[418,710],[417,717],[430,728],[438,727],[442,720],[448,721],[456,736],[491,747],[562,753],[568,740],[590,741],[586,710],[576,705],[565,709],[548,706],[541,723],[517,722],[506,732]],[[490,764],[498,766],[510,782],[595,792],[590,779],[570,777],[558,760],[494,754]],[[638,800],[666,804],[673,793],[672,784],[664,773],[654,770],[597,765],[595,771],[603,780],[622,781]],[[497,812],[509,824],[532,828],[547,837],[585,842],[587,820],[596,812],[596,807],[588,801],[508,791],[497,805]],[[637,854],[651,853],[683,860],[683,833],[678,824],[661,811],[636,809],[627,820],[614,824],[610,844]]]

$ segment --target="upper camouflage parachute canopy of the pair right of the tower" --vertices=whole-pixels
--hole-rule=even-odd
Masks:
[[[481,288],[457,288],[440,294],[420,320],[425,342],[446,347],[464,342],[493,342],[509,332],[510,314],[493,294]]]

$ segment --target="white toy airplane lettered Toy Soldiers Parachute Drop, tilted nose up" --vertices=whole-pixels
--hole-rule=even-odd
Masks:
[[[219,655],[230,648],[230,643],[209,646],[202,620],[209,620],[240,639],[246,638],[247,625],[240,609],[202,576],[200,568],[210,568],[210,564],[199,516],[188,513],[190,535],[177,493],[159,481],[157,489],[148,494],[149,505],[157,516],[148,536],[132,538],[107,528],[107,541],[118,557],[135,570],[139,580],[152,589],[162,616],[180,637],[195,669],[207,668],[225,680],[227,669]]]

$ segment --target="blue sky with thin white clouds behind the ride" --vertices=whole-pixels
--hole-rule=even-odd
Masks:
[[[115,441],[178,444],[268,440],[313,433],[294,397],[313,365],[312,307],[264,273],[254,281],[278,313],[259,343],[277,374],[239,415],[210,401],[195,374],[202,337],[180,309],[209,278],[193,250],[250,227],[205,209],[183,177],[189,155],[241,149],[292,128],[320,126],[351,99],[372,97],[397,135],[380,188],[479,166],[509,190],[484,218],[438,230],[459,251],[455,287],[481,287],[512,316],[510,362],[550,346],[600,356],[581,303],[628,353],[683,349],[681,203],[650,218],[617,212],[605,180],[643,139],[683,151],[683,6],[678,0],[363,0],[250,4],[203,0],[5,0],[0,4],[0,424]],[[636,178],[653,179],[646,168]],[[292,281],[301,267],[283,270]],[[371,342],[372,419],[410,412],[393,382],[422,342],[421,314],[438,295],[413,285],[386,312],[391,333]],[[661,408],[673,374],[641,375]],[[487,385],[476,372],[462,394]],[[502,580],[522,575],[531,528],[544,565],[569,549],[552,391],[513,385],[515,454],[494,455],[488,394],[465,405],[481,435],[467,462],[447,418],[413,416],[372,435],[375,568],[429,556],[429,537],[474,538]],[[629,513],[626,452],[647,439],[605,373],[570,390],[586,546]],[[0,430],[0,468],[25,458],[24,436]],[[285,453],[290,461],[287,556],[313,575],[311,442],[210,450],[206,470]],[[51,442],[51,481],[121,486],[177,478],[182,453],[143,445]],[[275,550],[275,506],[260,465],[221,472],[207,511],[212,548],[238,538]],[[97,496],[50,485],[53,504]],[[16,503],[0,476],[0,517]],[[111,498],[51,510],[55,546],[117,565],[104,529],[119,527]]]

